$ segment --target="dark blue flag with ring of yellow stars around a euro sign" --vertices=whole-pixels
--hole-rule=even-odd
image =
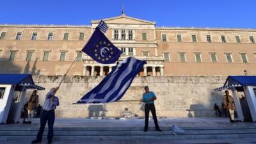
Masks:
[[[95,29],[82,51],[93,60],[103,64],[115,63],[122,54],[122,51],[108,40],[99,27]]]

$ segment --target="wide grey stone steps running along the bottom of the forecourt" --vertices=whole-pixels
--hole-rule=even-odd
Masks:
[[[150,127],[143,132],[142,127],[55,127],[54,140],[198,140],[222,138],[256,138],[255,125],[227,126],[186,126],[180,127],[185,133],[174,135],[170,127],[161,127],[163,132]],[[33,140],[38,126],[0,125],[0,141]],[[47,134],[45,127],[44,137]]]

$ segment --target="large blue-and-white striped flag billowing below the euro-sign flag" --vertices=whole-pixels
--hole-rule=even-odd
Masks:
[[[105,103],[120,100],[145,63],[147,62],[134,57],[126,58],[77,103]]]

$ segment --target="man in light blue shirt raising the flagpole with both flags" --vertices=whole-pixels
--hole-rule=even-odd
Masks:
[[[44,133],[44,128],[46,125],[46,122],[48,122],[48,135],[47,135],[47,143],[52,143],[52,137],[53,137],[53,124],[55,120],[55,112],[54,109],[56,109],[56,106],[59,106],[59,99],[55,96],[55,93],[59,87],[52,88],[50,92],[46,94],[45,102],[43,106],[43,111],[40,116],[40,129],[38,131],[38,134],[36,136],[36,140],[32,141],[32,143],[40,143],[42,141],[42,136]]]

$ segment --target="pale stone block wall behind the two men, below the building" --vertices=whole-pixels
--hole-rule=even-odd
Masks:
[[[60,106],[56,109],[57,117],[88,116],[144,116],[143,103],[138,101],[113,102],[108,104],[73,104],[92,90],[104,77],[68,76],[56,93]],[[45,94],[50,88],[58,86],[61,76],[33,76],[36,84],[45,87],[38,92],[40,104],[44,104]],[[140,100],[148,85],[156,93],[155,106],[157,116],[188,117],[215,116],[213,105],[221,106],[221,92],[213,89],[223,86],[226,77],[136,77],[121,100]],[[27,99],[31,91],[27,93]],[[151,115],[151,114],[150,114]]]

